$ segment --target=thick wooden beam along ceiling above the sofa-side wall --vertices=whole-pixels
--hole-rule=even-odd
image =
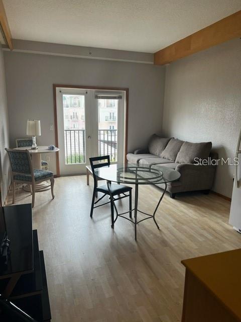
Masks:
[[[241,10],[157,51],[154,64],[165,65],[238,37],[241,37]]]

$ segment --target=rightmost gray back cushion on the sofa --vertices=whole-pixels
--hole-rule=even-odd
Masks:
[[[184,142],[177,154],[176,163],[194,163],[195,158],[208,158],[212,142]]]

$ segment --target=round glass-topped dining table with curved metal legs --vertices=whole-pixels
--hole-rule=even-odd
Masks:
[[[137,225],[146,219],[153,218],[157,228],[159,229],[159,225],[156,221],[155,215],[158,210],[158,207],[164,197],[164,194],[167,190],[167,183],[176,181],[180,178],[180,173],[176,170],[162,167],[159,165],[138,165],[138,164],[114,164],[109,166],[104,166],[101,168],[97,168],[94,170],[95,175],[99,179],[103,179],[107,181],[107,187],[109,190],[110,201],[113,204],[114,211],[116,213],[115,219],[111,223],[111,227],[114,227],[114,223],[118,217],[123,217],[135,225],[135,240],[137,240]],[[118,213],[117,208],[114,204],[114,198],[110,193],[110,184],[111,182],[115,182],[118,184],[128,184],[135,185],[135,206],[131,210],[134,212],[134,220],[132,218],[127,218],[125,214],[129,214],[130,210],[123,213]],[[138,208],[138,190],[139,185],[156,185],[156,184],[164,184],[164,190],[161,193],[161,197],[158,201],[158,204],[153,212],[153,214],[148,214]],[[144,219],[138,220],[138,212],[146,215]]]

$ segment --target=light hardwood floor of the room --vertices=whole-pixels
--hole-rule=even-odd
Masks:
[[[37,193],[33,228],[44,251],[54,322],[181,320],[184,267],[180,261],[240,247],[228,225],[230,202],[219,196],[167,194],[152,219],[138,226],[118,218],[110,228],[109,205],[89,217],[92,179],[55,179],[51,192]],[[139,189],[140,209],[152,211],[160,197],[153,186]],[[17,203],[31,202],[22,189]],[[11,203],[11,194],[9,196]],[[128,208],[128,198],[118,201]]]

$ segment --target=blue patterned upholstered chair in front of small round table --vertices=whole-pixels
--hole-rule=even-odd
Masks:
[[[13,203],[15,203],[16,183],[29,184],[32,193],[32,208],[34,208],[35,185],[46,180],[50,180],[51,194],[54,199],[54,174],[47,170],[33,169],[28,150],[8,148],[5,150],[8,152],[12,170]]]

